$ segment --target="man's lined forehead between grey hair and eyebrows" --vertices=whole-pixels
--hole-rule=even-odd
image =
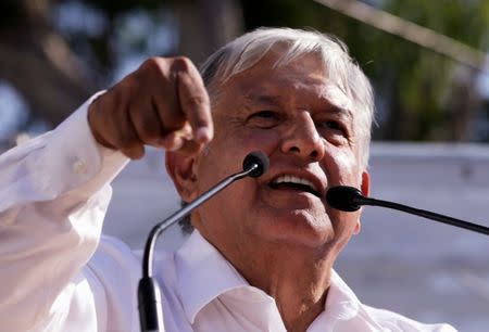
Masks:
[[[329,79],[318,55],[309,54],[278,65],[277,60],[277,54],[266,54],[251,68],[233,76],[222,92],[247,103],[328,103],[351,112],[350,98]]]

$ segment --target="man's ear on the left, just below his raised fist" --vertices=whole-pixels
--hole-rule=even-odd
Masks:
[[[166,151],[165,166],[180,197],[185,202],[195,200],[197,197],[196,156]]]

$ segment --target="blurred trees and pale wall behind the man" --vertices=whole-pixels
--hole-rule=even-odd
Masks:
[[[255,27],[312,28],[346,41],[375,87],[373,195],[489,226],[489,0],[3,0],[0,15],[1,151],[151,55],[199,64]],[[150,150],[115,180],[106,233],[140,247],[177,208],[162,166]],[[367,208],[337,269],[367,304],[481,332],[488,255],[482,235]]]

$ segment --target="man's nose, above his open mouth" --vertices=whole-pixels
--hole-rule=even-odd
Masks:
[[[309,158],[313,162],[321,161],[325,154],[325,144],[319,132],[317,132],[311,113],[305,110],[300,111],[291,119],[289,126],[281,142],[281,151]]]

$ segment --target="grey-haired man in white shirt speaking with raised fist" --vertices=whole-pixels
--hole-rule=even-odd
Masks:
[[[0,330],[139,330],[140,260],[100,232],[110,181],[153,145],[187,202],[251,151],[271,161],[199,207],[183,247],[161,253],[166,331],[454,331],[367,307],[333,270],[360,213],[324,196],[338,184],[368,193],[374,107],[344,46],[259,29],[201,73],[185,58],[150,59],[1,157]]]

